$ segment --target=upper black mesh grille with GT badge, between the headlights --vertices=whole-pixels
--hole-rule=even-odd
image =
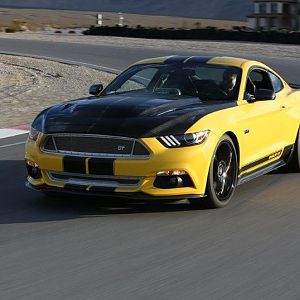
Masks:
[[[100,157],[149,157],[150,152],[138,140],[90,134],[48,135],[41,148],[44,152]]]

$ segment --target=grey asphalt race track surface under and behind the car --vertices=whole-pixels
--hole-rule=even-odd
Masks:
[[[0,51],[117,69],[170,54],[6,39]],[[263,61],[297,81],[299,62]],[[263,176],[219,210],[48,201],[24,187],[24,140],[0,140],[0,299],[300,299],[300,175]]]

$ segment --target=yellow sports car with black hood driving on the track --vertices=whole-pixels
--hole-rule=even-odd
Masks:
[[[299,169],[297,88],[240,58],[140,61],[36,117],[27,186],[224,207],[237,185]]]

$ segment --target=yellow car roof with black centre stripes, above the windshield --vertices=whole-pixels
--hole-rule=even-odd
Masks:
[[[163,64],[163,63],[203,63],[203,64],[216,64],[216,65],[228,65],[233,67],[242,67],[243,64],[252,62],[244,58],[227,57],[227,56],[182,56],[172,55],[155,57],[150,59],[144,59],[135,63],[139,64]],[[258,64],[258,62],[254,62]]]

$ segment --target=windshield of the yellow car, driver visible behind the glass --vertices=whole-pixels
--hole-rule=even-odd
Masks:
[[[136,65],[119,75],[102,95],[147,93],[201,100],[238,98],[241,69],[208,64]]]

